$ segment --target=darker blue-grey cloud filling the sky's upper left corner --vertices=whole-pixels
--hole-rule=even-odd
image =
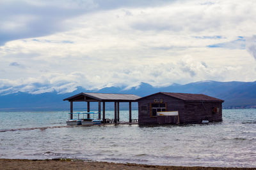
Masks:
[[[2,0],[0,46],[14,39],[47,36],[67,31],[73,25],[66,24],[65,20],[72,20],[86,13],[120,8],[120,6],[152,6],[163,2],[168,3],[163,0]]]

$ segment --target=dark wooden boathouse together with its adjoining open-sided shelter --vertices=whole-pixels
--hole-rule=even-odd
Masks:
[[[120,122],[121,102],[129,103],[129,123],[132,120],[131,103],[138,102],[138,124],[200,124],[206,122],[220,122],[222,120],[221,99],[206,96],[204,94],[186,94],[158,92],[149,96],[140,97],[134,94],[104,94],[104,93],[80,93],[63,99],[70,102],[70,119],[73,118],[73,103],[86,102],[87,112],[90,112],[90,103],[99,103],[99,119],[108,123],[105,117],[105,103],[111,102],[115,106],[114,123]],[[102,117],[101,117],[102,103]],[[88,117],[90,115],[88,114]]]

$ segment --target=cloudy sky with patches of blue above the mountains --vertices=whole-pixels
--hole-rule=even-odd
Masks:
[[[256,81],[255,8],[255,0],[1,0],[0,94]]]

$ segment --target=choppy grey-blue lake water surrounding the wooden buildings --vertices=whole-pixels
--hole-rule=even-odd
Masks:
[[[256,110],[223,110],[223,122],[208,125],[65,127],[65,120],[65,112],[0,112],[0,158],[256,167]]]

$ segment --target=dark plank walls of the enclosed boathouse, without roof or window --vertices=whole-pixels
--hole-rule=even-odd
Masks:
[[[157,117],[150,117],[150,103],[154,103],[155,99],[163,99],[163,103],[166,103],[166,111],[179,111],[180,124],[197,124],[202,120],[209,120],[209,122],[222,120],[221,102],[189,102],[164,94],[155,94],[138,100],[138,123],[140,125],[157,124]],[[218,113],[212,112],[214,107],[220,108]]]

